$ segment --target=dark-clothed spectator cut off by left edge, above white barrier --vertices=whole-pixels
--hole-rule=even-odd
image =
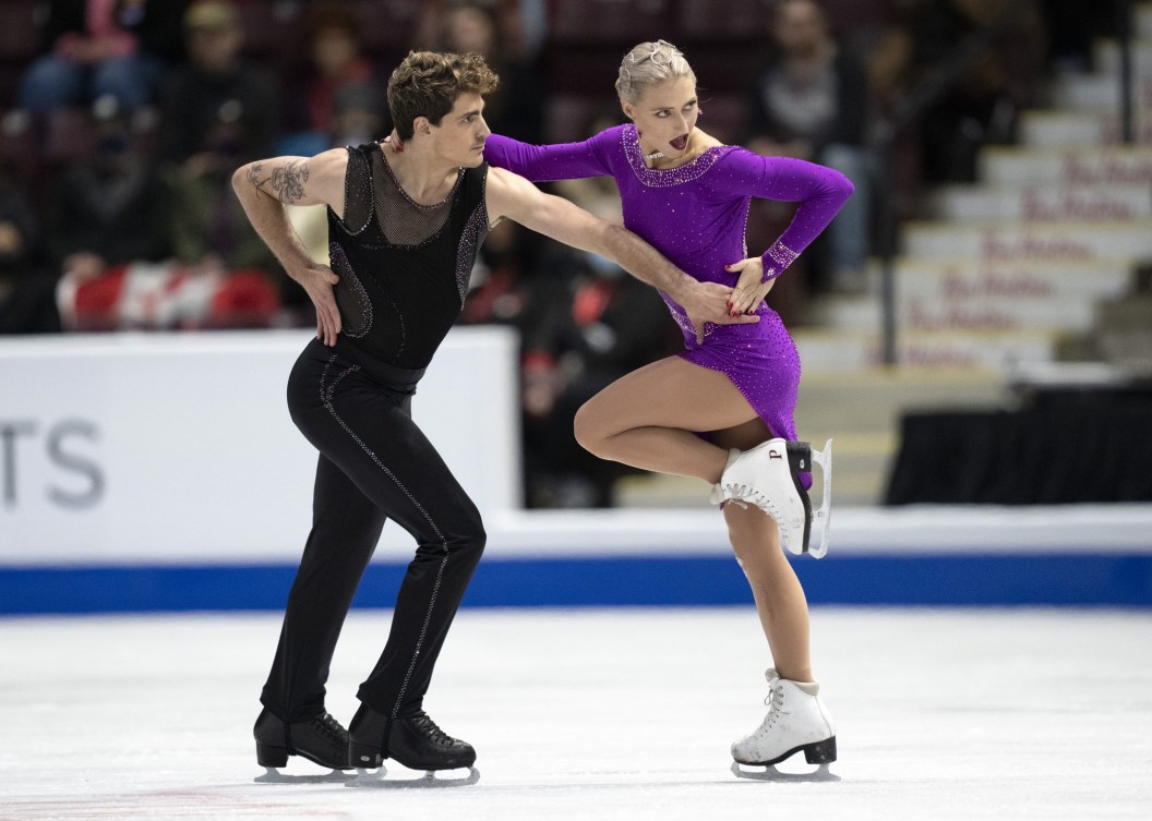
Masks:
[[[32,208],[0,170],[0,334],[60,330],[54,284],[39,265]]]

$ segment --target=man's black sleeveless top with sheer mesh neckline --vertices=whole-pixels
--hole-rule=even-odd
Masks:
[[[442,203],[420,205],[400,188],[378,143],[348,147],[343,219],[328,208],[338,351],[369,368],[373,360],[427,366],[460,316],[488,233],[487,173],[487,164],[461,168]]]

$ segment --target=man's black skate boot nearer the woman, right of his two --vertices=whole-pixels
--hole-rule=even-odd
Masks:
[[[384,759],[395,759],[409,769],[457,769],[476,762],[471,744],[453,738],[427,713],[388,719],[361,705],[349,724],[354,767],[380,767]]]

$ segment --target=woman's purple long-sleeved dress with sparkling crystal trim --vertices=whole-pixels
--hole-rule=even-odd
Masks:
[[[615,178],[626,228],[690,276],[726,286],[735,286],[738,275],[725,265],[748,258],[744,226],[752,197],[801,203],[791,225],[764,253],[764,271],[771,276],[808,248],[852,192],[840,172],[732,145],[708,149],[679,168],[655,170],[644,165],[630,123],[562,145],[526,145],[492,135],[484,158],[533,182]],[[697,344],[684,309],[667,294],[661,296],[684,334],[680,356],[727,375],[774,436],[796,439],[799,355],[780,316],[761,304],[759,322],[707,322],[704,342]]]

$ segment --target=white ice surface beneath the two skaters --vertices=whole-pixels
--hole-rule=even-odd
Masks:
[[[344,723],[389,616],[344,630]],[[464,609],[425,707],[477,747],[478,784],[258,784],[278,632],[274,614],[0,619],[0,820],[1152,818],[1149,611],[816,609],[839,783],[728,771],[767,654],[755,611],[726,608]]]

